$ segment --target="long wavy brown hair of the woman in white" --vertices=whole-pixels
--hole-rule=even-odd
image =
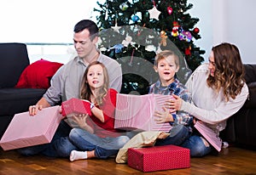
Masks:
[[[221,43],[212,48],[215,62],[214,76],[208,76],[207,84],[218,93],[223,88],[224,100],[236,99],[245,83],[244,66],[238,48],[230,43]]]

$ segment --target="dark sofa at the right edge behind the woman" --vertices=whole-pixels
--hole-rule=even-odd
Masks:
[[[244,66],[249,97],[241,110],[229,118],[221,137],[231,145],[256,150],[256,65]]]

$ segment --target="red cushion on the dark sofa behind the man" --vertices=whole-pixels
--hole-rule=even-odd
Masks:
[[[15,88],[49,88],[49,81],[61,67],[61,63],[40,59],[28,65]]]

